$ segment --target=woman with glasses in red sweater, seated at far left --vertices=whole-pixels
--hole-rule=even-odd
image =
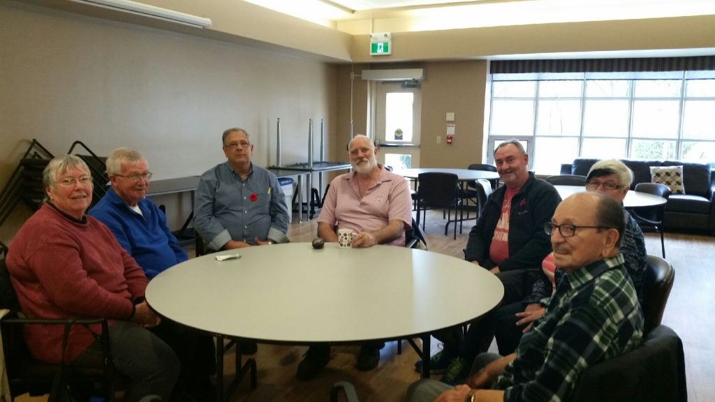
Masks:
[[[79,157],[56,157],[43,172],[43,185],[46,202],[17,232],[6,259],[22,312],[29,318],[108,318],[114,367],[129,378],[124,401],[148,395],[168,401],[179,361],[147,330],[159,317],[144,301],[142,268],[106,226],[85,215],[92,202],[89,168]],[[30,325],[25,336],[35,358],[61,360],[59,325]],[[65,360],[94,361],[101,350],[89,330],[76,326]]]

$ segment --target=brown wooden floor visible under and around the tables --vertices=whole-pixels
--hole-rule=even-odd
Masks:
[[[458,232],[457,240],[453,240],[451,227],[450,235],[444,235],[441,212],[429,212],[427,223],[425,237],[430,250],[463,257],[462,249],[473,222],[464,226],[463,234]],[[315,220],[302,223],[294,220],[288,235],[293,242],[308,242],[315,237],[316,227]],[[660,255],[659,236],[646,234],[646,247],[649,254]],[[189,249],[189,253],[192,252]],[[674,265],[676,278],[664,324],[673,328],[684,341],[689,401],[715,401],[715,346],[711,333],[715,330],[715,314],[711,313],[715,306],[715,237],[667,233],[666,258]],[[354,368],[358,347],[334,347],[325,371],[306,383],[295,378],[305,346],[259,345],[258,353],[251,356],[257,361],[257,388],[251,390],[244,380],[230,401],[328,401],[330,386],[337,381],[352,382],[363,402],[403,401],[408,385],[418,379],[418,373],[414,371],[417,356],[406,342],[403,342],[403,353],[398,355],[396,345],[396,342],[387,343],[381,351],[380,366],[366,373]],[[433,345],[433,351],[436,351],[435,341]],[[227,373],[232,373],[235,355],[229,353],[226,358]],[[31,399],[21,398],[21,401]]]

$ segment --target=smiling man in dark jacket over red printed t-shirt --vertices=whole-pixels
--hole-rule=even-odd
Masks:
[[[522,300],[531,291],[541,273],[541,261],[551,253],[551,239],[543,232],[543,225],[551,222],[561,202],[553,185],[528,171],[528,160],[516,139],[496,147],[494,163],[504,185],[488,198],[465,249],[466,260],[490,270],[502,281],[503,303]],[[477,338],[487,348],[493,338],[493,325],[488,321],[485,317],[470,327],[470,331],[484,331]],[[444,348],[432,358],[433,373],[444,372],[460,353],[456,338],[446,333],[438,335]]]

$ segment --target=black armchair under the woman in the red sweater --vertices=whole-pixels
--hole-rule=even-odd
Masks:
[[[73,393],[88,398],[97,391],[105,401],[114,401],[114,363],[109,348],[109,325],[103,318],[78,319],[30,319],[19,313],[19,303],[5,259],[0,259],[0,308],[9,313],[0,320],[3,340],[3,353],[9,382],[11,398],[29,393],[30,396],[49,394],[49,402],[58,401]],[[102,332],[96,333],[90,325],[101,325]],[[70,328],[82,325],[92,331],[95,338],[101,340],[104,358],[93,366],[78,366],[61,361],[46,363],[33,358],[24,341],[24,325],[63,325],[63,348],[66,347]],[[64,356],[64,349],[62,351]]]

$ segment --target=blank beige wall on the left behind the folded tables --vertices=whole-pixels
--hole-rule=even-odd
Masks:
[[[332,64],[16,2],[0,3],[0,21],[0,188],[32,138],[56,155],[75,139],[99,155],[134,147],[156,180],[225,160],[233,126],[252,135],[255,162],[275,162],[277,117],[283,163],[307,161],[310,118],[316,132],[325,119],[331,149]],[[188,204],[167,204],[174,227]]]

